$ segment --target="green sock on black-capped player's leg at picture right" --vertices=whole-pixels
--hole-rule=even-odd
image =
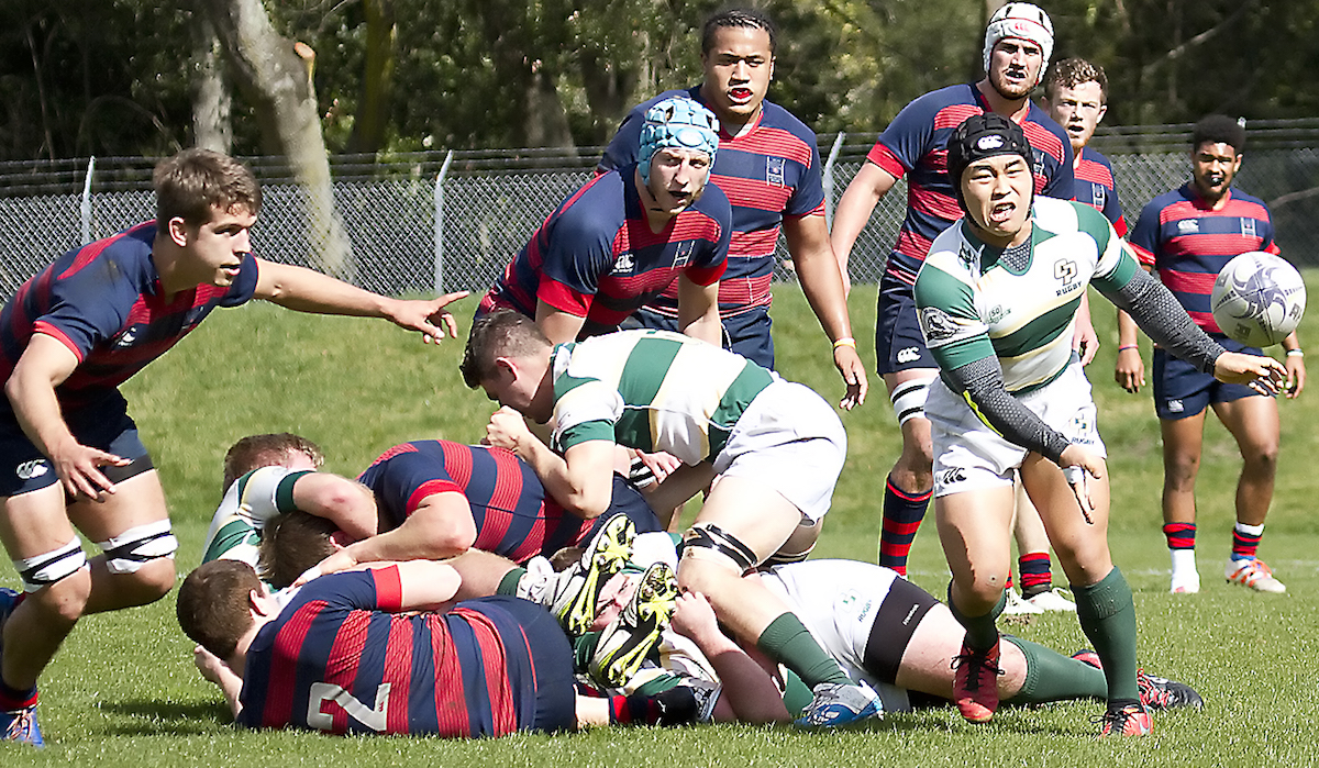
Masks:
[[[1080,628],[1095,644],[1108,678],[1108,701],[1138,701],[1136,685],[1136,602],[1122,571],[1108,571],[1096,585],[1071,585]]]

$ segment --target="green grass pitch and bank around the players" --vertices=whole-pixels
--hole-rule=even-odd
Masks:
[[[1311,284],[1314,285],[1311,277]],[[868,339],[873,286],[852,298]],[[1311,765],[1319,761],[1319,495],[1315,470],[1319,389],[1281,404],[1278,492],[1261,553],[1287,595],[1248,594],[1219,577],[1231,544],[1237,472],[1231,437],[1212,422],[1200,472],[1203,591],[1173,598],[1159,533],[1158,426],[1149,397],[1112,383],[1112,311],[1095,301],[1103,348],[1089,373],[1109,447],[1115,561],[1136,592],[1141,661],[1198,688],[1202,713],[1158,715],[1154,735],[1093,739],[1096,703],[1001,713],[971,727],[955,710],[890,715],[847,732],[702,727],[599,730],[571,736],[438,739],[328,738],[239,732],[193,669],[191,644],[174,623],[174,598],[82,622],[42,681],[44,752],[0,747],[0,765]],[[466,331],[472,300],[455,311]],[[798,290],[774,306],[781,372],[831,400],[842,387],[828,346]],[[1319,339],[1315,314],[1302,339]],[[865,356],[873,348],[863,343]],[[460,342],[423,346],[380,322],[297,315],[268,305],[216,313],[193,338],[125,387],[160,467],[179,569],[200,556],[220,495],[220,458],[236,438],[291,430],[319,442],[327,468],[355,474],[384,449],[414,438],[475,441],[491,404],[462,385]],[[1146,363],[1148,342],[1146,342]],[[1319,387],[1319,380],[1316,380]],[[884,476],[900,449],[892,409],[876,385],[843,416],[849,458],[816,556],[871,560]],[[1316,472],[1316,474],[1310,474]],[[1060,573],[1055,567],[1055,578]],[[917,537],[913,581],[942,594],[947,582],[933,525]],[[11,566],[0,583],[16,586]],[[1012,631],[1064,653],[1084,645],[1070,616],[1046,615]]]

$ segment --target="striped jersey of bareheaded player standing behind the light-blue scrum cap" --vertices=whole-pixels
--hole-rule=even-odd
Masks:
[[[600,168],[636,162],[646,110],[673,96],[704,104],[700,86],[666,91],[638,104],[619,125],[600,158]],[[733,236],[728,245],[728,271],[719,282],[719,311],[731,317],[769,306],[774,247],[783,219],[824,215],[824,182],[815,132],[787,110],[764,102],[756,124],[747,133],[733,137],[720,128],[710,181],[733,206]],[[650,309],[677,317],[677,292],[670,288],[650,304]]]

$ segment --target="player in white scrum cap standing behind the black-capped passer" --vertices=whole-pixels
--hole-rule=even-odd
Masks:
[[[911,285],[934,238],[962,216],[955,179],[943,158],[948,135],[971,115],[993,112],[1021,124],[1035,149],[1030,168],[1039,194],[1072,199],[1072,150],[1067,135],[1030,102],[1054,49],[1049,15],[1029,3],[1008,3],[989,20],[984,40],[984,79],[931,91],[902,108],[880,135],[834,212],[834,252],[847,264],[857,235],[893,185],[907,177],[907,212],[880,278],[874,346],[902,430],[902,454],[884,490],[880,565],[906,574],[907,553],[925,519],[930,475],[930,422],[925,399],[938,366],[921,336]],[[1097,339],[1083,319],[1086,362]],[[1080,339],[1078,340],[1080,343]]]

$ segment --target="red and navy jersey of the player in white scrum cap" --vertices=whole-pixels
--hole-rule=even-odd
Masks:
[[[907,212],[889,256],[889,276],[913,285],[930,243],[952,222],[962,207],[948,179],[948,136],[967,117],[989,112],[975,84],[964,83],[930,91],[898,112],[880,133],[865,158],[893,178],[907,176]],[[1034,150],[1035,194],[1072,199],[1072,150],[1067,133],[1034,103],[1021,121]]]

